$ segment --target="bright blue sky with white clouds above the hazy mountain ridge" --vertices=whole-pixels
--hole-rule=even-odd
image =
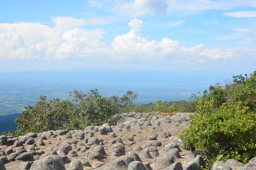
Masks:
[[[256,70],[256,0],[0,0],[0,72]]]

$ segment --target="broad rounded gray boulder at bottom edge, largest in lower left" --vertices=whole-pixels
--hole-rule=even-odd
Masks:
[[[65,167],[61,157],[53,154],[34,161],[30,170],[65,170]]]

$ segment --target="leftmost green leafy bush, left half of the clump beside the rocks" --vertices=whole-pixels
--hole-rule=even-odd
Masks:
[[[47,100],[45,96],[34,106],[26,106],[25,110],[15,120],[18,124],[16,134],[24,135],[28,132],[39,133],[48,130],[61,129],[68,123],[73,105],[69,101],[59,99]]]

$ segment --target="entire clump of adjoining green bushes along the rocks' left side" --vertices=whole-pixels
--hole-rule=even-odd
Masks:
[[[74,90],[70,93],[72,101],[47,100],[45,96],[34,106],[26,106],[15,120],[17,131],[8,135],[21,136],[28,132],[39,133],[57,129],[83,129],[89,125],[104,123],[116,124],[118,115],[117,103],[102,97],[98,89],[89,90],[86,94]],[[3,133],[7,134],[7,133]]]

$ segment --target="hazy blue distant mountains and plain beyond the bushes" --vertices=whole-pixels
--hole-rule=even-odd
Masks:
[[[232,78],[229,73],[158,71],[117,68],[80,68],[69,71],[20,71],[0,73],[0,115],[17,114],[33,105],[39,95],[68,98],[74,89],[98,88],[103,96],[138,93],[137,103],[188,100],[216,82]]]

